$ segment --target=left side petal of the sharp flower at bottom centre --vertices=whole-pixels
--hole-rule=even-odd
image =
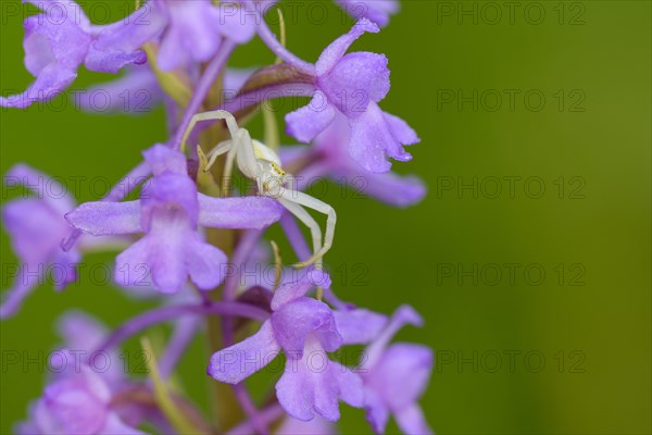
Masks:
[[[272,323],[265,321],[251,337],[213,353],[206,372],[220,382],[238,384],[267,365],[279,351]]]

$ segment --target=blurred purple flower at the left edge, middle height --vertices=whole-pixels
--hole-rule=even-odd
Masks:
[[[68,252],[61,249],[61,241],[73,232],[63,216],[75,208],[75,201],[57,181],[18,164],[7,173],[4,183],[8,188],[27,186],[36,196],[9,201],[2,210],[4,226],[21,265],[13,288],[0,306],[0,319],[13,315],[21,308],[27,295],[46,281],[48,270],[55,274],[57,289],[74,282],[82,257],[79,249],[88,241],[80,240],[77,249]]]

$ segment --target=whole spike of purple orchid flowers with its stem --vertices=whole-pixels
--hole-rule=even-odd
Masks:
[[[43,185],[39,179],[55,182],[27,165],[8,173],[33,191],[2,209],[21,272],[3,295],[0,318],[14,315],[47,281],[43,265],[72,271],[57,281],[62,290],[89,250],[121,251],[113,265],[115,285],[136,299],[159,302],[114,330],[79,312],[62,318],[58,355],[76,363],[50,376],[16,432],[142,434],[148,427],[266,434],[275,427],[277,434],[331,434],[343,401],[364,409],[375,433],[386,431],[390,415],[404,433],[431,433],[418,399],[428,385],[432,351],[390,343],[404,324],[421,326],[423,320],[408,306],[388,316],[337,298],[324,263],[334,240],[341,243],[335,237],[336,211],[305,192],[315,178],[330,178],[363,179],[368,196],[394,207],[412,206],[425,195],[417,177],[390,172],[390,159],[412,159],[404,147],[418,137],[378,105],[390,90],[388,59],[348,52],[363,34],[388,24],[398,2],[337,0],[356,22],[314,64],[287,50],[267,27],[264,16],[278,3],[274,0],[150,0],[108,25],[92,24],[72,0],[29,2],[41,10],[24,23],[25,66],[36,79],[21,95],[0,97],[0,105],[26,108],[51,99],[65,91],[82,64],[105,73],[125,69],[104,88],[115,95],[151,91],[165,103],[171,135],[164,144],[134,151],[142,161],[125,179],[140,181],[131,186],[137,200],[125,200],[131,191],[113,189],[77,206],[75,198],[53,198],[35,187]],[[237,47],[256,36],[278,62],[227,69]],[[216,97],[224,89],[234,92]],[[268,110],[259,103],[297,89],[308,104],[286,114],[286,132],[303,145],[279,147],[273,133],[269,144],[252,139],[243,125]],[[253,92],[263,97],[252,99]],[[234,187],[235,169],[251,181],[249,187]],[[327,215],[324,240],[305,208]],[[264,236],[277,222],[299,261],[294,268],[283,266],[275,244],[274,258],[268,254]],[[310,228],[312,249],[297,222]],[[252,264],[273,266],[275,278],[241,279],[238,271]],[[89,355],[115,362],[123,341],[166,323],[172,333],[150,356],[155,373],[149,378],[128,376],[115,365],[95,370]],[[258,325],[253,334],[252,325]],[[212,346],[206,381],[231,385],[217,389],[222,396],[208,418],[191,397],[168,385],[198,335]],[[334,352],[352,345],[366,346],[362,358],[338,361]],[[254,403],[244,380],[279,358],[285,360],[280,378],[264,403]],[[226,408],[234,402],[239,412]]]

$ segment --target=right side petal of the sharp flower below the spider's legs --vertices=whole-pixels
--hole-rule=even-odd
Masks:
[[[387,316],[369,310],[337,310],[333,312],[337,331],[344,345],[364,345],[375,339],[387,324]]]

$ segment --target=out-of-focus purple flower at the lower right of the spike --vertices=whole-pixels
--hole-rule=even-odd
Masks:
[[[432,350],[408,343],[387,346],[406,323],[422,325],[423,320],[412,307],[402,306],[367,347],[366,359],[360,368],[367,420],[378,434],[385,432],[390,413],[408,435],[432,433],[417,403],[432,371]]]

